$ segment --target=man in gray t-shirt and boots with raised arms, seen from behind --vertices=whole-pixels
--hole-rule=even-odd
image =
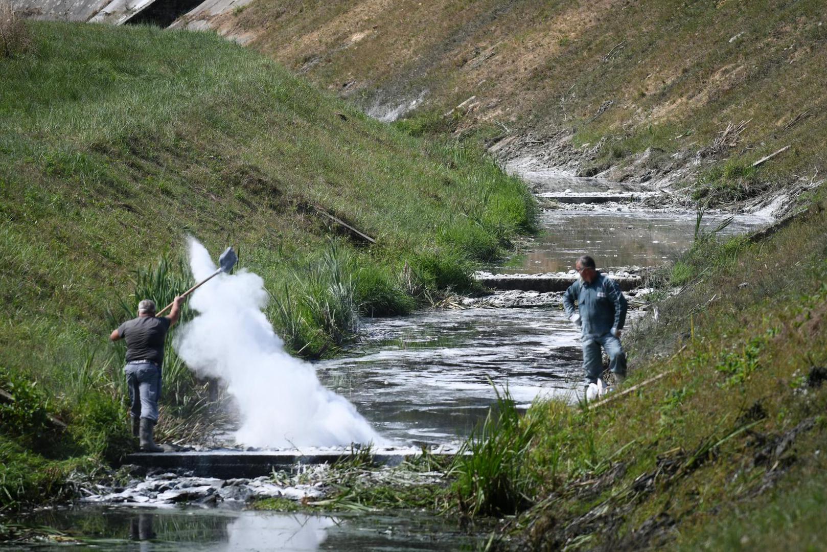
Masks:
[[[141,440],[144,452],[163,452],[155,444],[153,429],[158,423],[161,364],[166,333],[178,322],[182,297],[175,297],[169,316],[155,316],[155,301],[138,303],[138,317],[127,320],[109,336],[127,340],[127,374],[132,434]]]

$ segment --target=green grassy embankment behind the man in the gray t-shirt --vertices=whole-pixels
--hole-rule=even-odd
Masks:
[[[137,300],[189,283],[188,234],[237,246],[288,347],[318,357],[352,340],[357,314],[471,288],[473,262],[532,228],[530,194],[477,151],[372,121],[218,36],[28,30],[31,47],[0,58],[0,386],[14,397],[0,509],[128,448],[107,336]],[[174,353],[165,377],[170,438],[207,393]]]

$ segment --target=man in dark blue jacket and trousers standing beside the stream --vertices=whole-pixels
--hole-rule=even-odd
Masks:
[[[622,382],[626,377],[626,353],[620,345],[620,331],[626,322],[626,298],[617,283],[600,274],[588,255],[577,259],[580,280],[563,295],[566,316],[581,327],[585,384],[597,383],[603,371],[600,347],[609,355],[609,368]]]

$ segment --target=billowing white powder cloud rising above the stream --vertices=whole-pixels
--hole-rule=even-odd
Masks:
[[[209,253],[189,240],[195,281],[216,271]],[[241,444],[261,448],[384,444],[344,397],[318,381],[308,362],[291,357],[263,309],[269,299],[261,276],[241,269],[195,290],[198,315],[184,325],[174,348],[199,377],[219,378],[235,397]]]

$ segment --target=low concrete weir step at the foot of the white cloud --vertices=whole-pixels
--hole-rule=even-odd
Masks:
[[[356,454],[359,454],[358,452]],[[418,456],[416,449],[382,450],[371,454],[373,463],[398,465],[405,459]],[[435,455],[452,455],[433,452]],[[189,471],[199,478],[258,478],[270,475],[273,469],[290,468],[297,464],[337,463],[351,458],[350,451],[319,451],[302,453],[281,450],[205,450],[173,453],[135,453],[127,455],[124,463],[143,468],[160,468],[170,471]]]

